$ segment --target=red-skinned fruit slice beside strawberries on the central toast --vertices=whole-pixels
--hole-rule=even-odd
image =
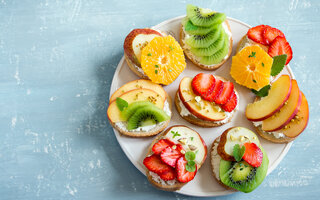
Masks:
[[[214,103],[201,99],[193,93],[192,78],[184,77],[179,85],[179,97],[183,105],[196,117],[205,121],[220,121],[227,117]]]

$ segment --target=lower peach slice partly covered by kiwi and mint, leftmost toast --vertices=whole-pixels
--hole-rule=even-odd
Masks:
[[[122,94],[120,98],[126,100],[129,104],[135,101],[150,101],[161,109],[164,106],[164,99],[158,93],[149,89],[130,90]],[[112,101],[109,104],[107,115],[112,123],[124,121],[116,101]]]

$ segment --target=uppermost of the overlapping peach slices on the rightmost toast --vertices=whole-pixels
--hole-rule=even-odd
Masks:
[[[282,75],[271,86],[268,96],[247,105],[246,117],[250,121],[262,121],[278,112],[291,93],[291,80]]]

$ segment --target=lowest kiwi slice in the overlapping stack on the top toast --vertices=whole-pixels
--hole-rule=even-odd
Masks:
[[[229,38],[226,37],[221,49],[211,56],[200,57],[200,63],[205,65],[213,65],[220,63],[229,52]]]

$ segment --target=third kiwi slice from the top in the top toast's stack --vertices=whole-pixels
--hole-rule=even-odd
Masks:
[[[205,35],[192,35],[185,42],[192,48],[207,48],[219,38],[222,29],[222,25],[218,25]]]

